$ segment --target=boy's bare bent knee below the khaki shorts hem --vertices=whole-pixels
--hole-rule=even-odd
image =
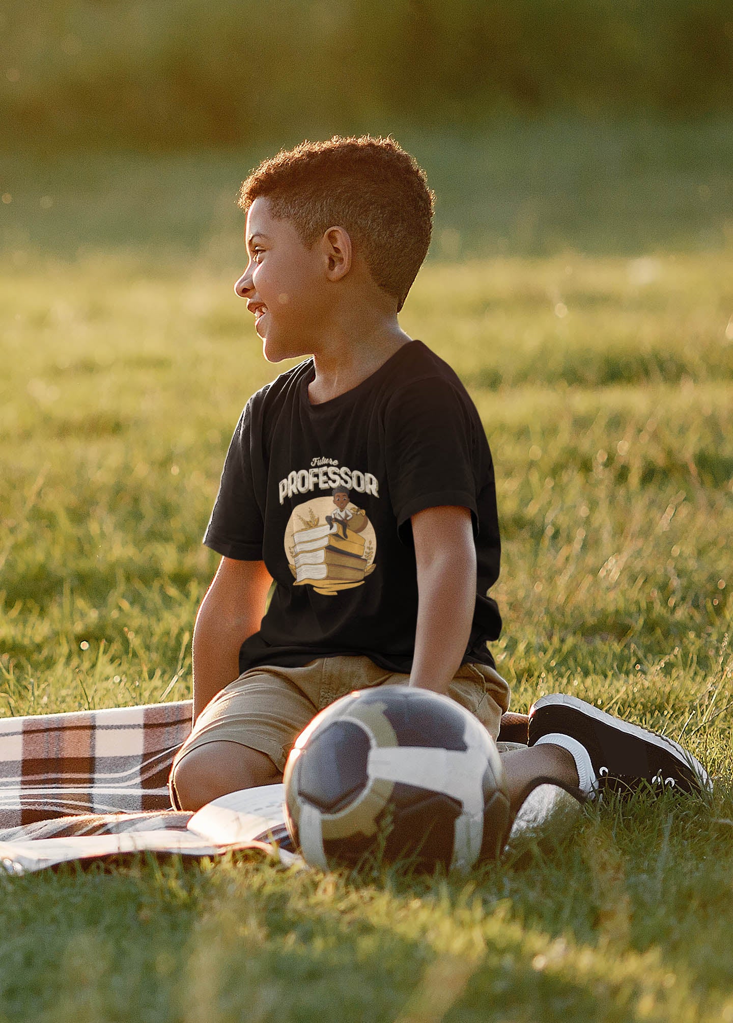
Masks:
[[[280,773],[259,750],[215,742],[185,753],[171,771],[171,793],[182,810],[198,810],[213,799],[240,789],[271,785]]]

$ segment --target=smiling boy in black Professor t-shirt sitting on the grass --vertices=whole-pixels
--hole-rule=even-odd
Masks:
[[[495,739],[509,705],[487,647],[501,629],[486,595],[500,551],[489,447],[457,375],[398,323],[430,239],[423,172],[392,139],[335,137],[265,161],[240,206],[236,294],[268,361],[305,361],[249,399],[207,530],[222,561],[171,773],[186,809],[279,781],[300,731],[355,688],[448,694]],[[330,534],[336,492],[356,492],[368,531]],[[503,762],[514,810],[539,777],[588,794],[709,784],[676,744],[574,698],[540,700],[530,746]]]

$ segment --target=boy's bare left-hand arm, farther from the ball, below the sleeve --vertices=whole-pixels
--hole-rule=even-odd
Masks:
[[[193,628],[193,720],[239,675],[239,648],[260,628],[272,578],[264,562],[222,558]]]

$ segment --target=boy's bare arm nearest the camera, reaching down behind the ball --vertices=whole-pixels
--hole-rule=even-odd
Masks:
[[[417,630],[410,684],[448,693],[468,646],[476,603],[471,514],[445,505],[412,516]]]

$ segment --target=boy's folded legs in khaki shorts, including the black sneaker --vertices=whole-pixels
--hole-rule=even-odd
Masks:
[[[290,746],[323,706],[351,688],[406,682],[366,658],[339,657],[303,668],[246,672],[199,715],[171,773],[174,805],[197,809],[238,789],[279,781]],[[508,686],[490,668],[463,665],[451,696],[499,731]],[[514,811],[538,779],[578,787],[587,795],[617,777],[700,791],[709,779],[682,747],[619,721],[574,697],[543,697],[532,708],[530,746],[502,754]]]

